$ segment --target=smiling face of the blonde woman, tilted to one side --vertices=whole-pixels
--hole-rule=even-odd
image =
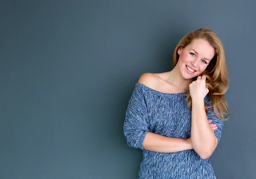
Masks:
[[[185,48],[177,51],[180,55],[178,66],[185,79],[191,79],[201,75],[214,57],[214,48],[204,39],[194,39]]]

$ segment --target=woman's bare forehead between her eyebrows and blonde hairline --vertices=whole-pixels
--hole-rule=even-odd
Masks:
[[[211,60],[214,57],[214,48],[207,40],[194,39],[192,43],[186,46],[187,49],[194,49],[202,58]]]

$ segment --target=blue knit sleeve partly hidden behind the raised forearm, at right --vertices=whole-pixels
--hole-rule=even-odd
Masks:
[[[212,119],[212,122],[210,124],[217,124],[218,129],[214,130],[214,134],[217,137],[219,143],[219,141],[221,140],[221,130],[223,128],[223,121],[215,115],[213,107],[208,109],[207,119]]]

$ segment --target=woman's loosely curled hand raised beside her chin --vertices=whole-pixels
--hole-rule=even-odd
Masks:
[[[193,101],[204,101],[204,97],[209,92],[205,84],[206,76],[198,76],[196,81],[189,84],[189,92]]]

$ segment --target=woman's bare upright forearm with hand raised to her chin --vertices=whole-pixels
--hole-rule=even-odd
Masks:
[[[206,88],[206,76],[198,76],[196,81],[189,84],[192,98],[191,143],[196,153],[202,158],[209,158],[215,150],[218,140],[211,130],[204,110],[204,97],[209,90]],[[221,130],[221,129],[219,129]]]

